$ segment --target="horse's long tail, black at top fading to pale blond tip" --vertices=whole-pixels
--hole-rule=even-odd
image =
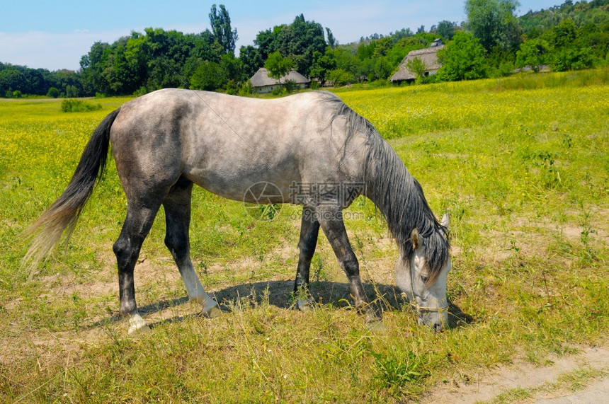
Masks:
[[[29,267],[30,278],[33,270],[50,255],[66,231],[66,243],[87,200],[93,192],[96,180],[103,178],[110,146],[110,127],[118,110],[110,112],[91,135],[80,158],[76,171],[66,190],[27,230],[25,235],[32,238],[30,249],[23,257],[22,265]]]

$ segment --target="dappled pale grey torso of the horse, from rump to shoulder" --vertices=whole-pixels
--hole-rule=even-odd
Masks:
[[[286,195],[292,183],[339,180],[347,134],[329,93],[275,100],[166,89],[121,107],[111,132],[121,180],[135,171],[159,183],[180,175],[241,200],[254,183]],[[120,167],[119,167],[120,166]],[[344,171],[344,170],[343,170]]]

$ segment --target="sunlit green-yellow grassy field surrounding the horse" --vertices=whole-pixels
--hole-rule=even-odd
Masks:
[[[384,332],[352,309],[324,236],[312,263],[319,304],[290,309],[297,207],[260,221],[198,189],[193,262],[227,313],[202,318],[188,303],[159,212],[135,271],[152,330],[127,337],[111,248],[126,202],[111,161],[69,245],[34,272],[19,267],[21,233],[127,98],[91,100],[102,109],[87,112],[0,100],[0,401],[402,402],[496,364],[607,345],[609,71],[337,93],[389,139],[433,211],[451,214],[449,330],[416,325],[370,201],[354,202],[346,226]]]

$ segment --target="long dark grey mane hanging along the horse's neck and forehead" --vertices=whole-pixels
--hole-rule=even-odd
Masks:
[[[356,133],[364,134],[368,139],[368,156],[364,167],[365,195],[385,216],[387,227],[406,260],[411,260],[414,255],[411,232],[419,229],[428,265],[428,284],[433,284],[448,261],[448,229],[431,212],[419,181],[410,175],[394,149],[380,137],[375,127],[340,98],[327,94],[327,102],[334,105],[334,116],[343,116],[346,120],[346,142]]]

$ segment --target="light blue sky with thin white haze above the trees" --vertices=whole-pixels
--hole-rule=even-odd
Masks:
[[[0,0],[0,62],[78,69],[80,58],[96,41],[113,42],[144,28],[199,33],[210,28],[214,1],[135,0]],[[402,28],[429,29],[438,21],[463,21],[460,0],[219,0],[229,11],[241,45],[274,25],[291,23],[300,13],[307,21],[328,27],[340,43],[372,33],[387,35]],[[540,10],[562,0],[520,0],[518,14]]]

